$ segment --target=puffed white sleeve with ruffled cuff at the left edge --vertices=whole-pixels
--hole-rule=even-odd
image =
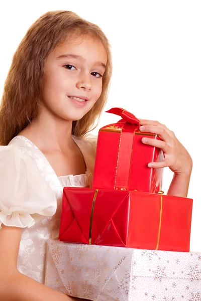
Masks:
[[[20,147],[0,146],[0,229],[31,227],[56,212],[56,196]]]

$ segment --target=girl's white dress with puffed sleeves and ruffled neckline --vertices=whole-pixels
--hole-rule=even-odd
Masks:
[[[72,137],[86,164],[86,173],[79,176],[57,177],[40,149],[24,136],[0,146],[0,229],[2,223],[25,228],[18,270],[42,283],[46,241],[58,239],[63,187],[87,187],[92,183],[95,139]]]

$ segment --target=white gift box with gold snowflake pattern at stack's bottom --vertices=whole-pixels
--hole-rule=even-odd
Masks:
[[[102,301],[201,301],[201,253],[47,244],[45,284]]]

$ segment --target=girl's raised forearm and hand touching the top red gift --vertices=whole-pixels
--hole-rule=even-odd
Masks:
[[[192,159],[185,147],[179,142],[175,134],[164,124],[152,120],[140,120],[140,130],[158,134],[161,140],[143,138],[142,142],[162,149],[164,160],[151,162],[150,168],[169,167],[174,173],[168,195],[187,197],[190,175],[192,171]]]

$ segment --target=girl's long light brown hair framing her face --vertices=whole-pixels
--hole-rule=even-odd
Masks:
[[[103,31],[73,12],[53,11],[41,16],[18,46],[9,70],[0,106],[0,145],[7,145],[38,114],[45,60],[60,43],[78,33],[92,35],[104,45],[108,61],[102,94],[80,120],[73,121],[72,134],[83,136],[99,118],[108,97],[112,75],[110,43]]]

